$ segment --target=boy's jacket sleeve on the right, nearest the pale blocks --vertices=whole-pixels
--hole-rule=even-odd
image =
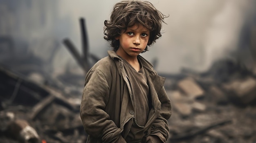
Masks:
[[[151,126],[151,133],[148,138],[158,136],[162,143],[165,143],[169,137],[168,119],[171,117],[171,101],[169,100],[164,87],[162,87],[158,98],[161,102],[161,109],[158,117],[155,119]]]

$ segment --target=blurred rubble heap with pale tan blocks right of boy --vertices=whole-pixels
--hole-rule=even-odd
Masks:
[[[256,143],[256,76],[229,59],[169,79],[170,143]],[[170,84],[171,83],[171,84]]]

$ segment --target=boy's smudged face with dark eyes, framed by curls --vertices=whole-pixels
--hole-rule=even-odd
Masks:
[[[150,31],[141,24],[135,24],[121,32],[122,34],[116,37],[120,42],[117,55],[126,60],[137,58],[148,44]]]

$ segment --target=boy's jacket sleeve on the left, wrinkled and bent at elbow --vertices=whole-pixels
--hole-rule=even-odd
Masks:
[[[110,120],[104,111],[109,98],[109,86],[106,76],[100,70],[89,71],[85,77],[85,87],[80,106],[80,116],[85,131],[91,137],[104,143],[122,141],[121,129]]]

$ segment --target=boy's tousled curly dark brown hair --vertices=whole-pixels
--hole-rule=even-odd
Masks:
[[[162,22],[168,16],[158,11],[152,3],[139,0],[125,0],[114,5],[110,20],[104,21],[104,39],[110,41],[114,51],[119,48],[119,40],[115,37],[121,35],[121,31],[134,24],[141,24],[150,31],[148,46],[162,36]],[[165,22],[164,22],[165,23]],[[143,52],[148,51],[148,47]]]

